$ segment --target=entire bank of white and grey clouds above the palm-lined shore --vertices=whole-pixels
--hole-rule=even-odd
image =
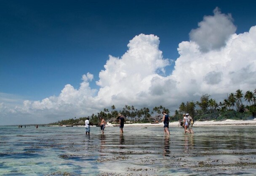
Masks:
[[[222,101],[238,88],[256,88],[256,26],[235,34],[230,15],[218,8],[205,16],[193,29],[190,41],[182,41],[171,75],[159,50],[160,39],[140,34],[128,44],[122,57],[109,56],[99,73],[99,90],[91,89],[93,75],[82,76],[79,89],[65,85],[59,96],[41,101],[24,101],[15,107],[0,103],[0,119],[5,124],[48,123],[63,117],[88,116],[103,108],[122,108],[125,104],[140,107],[163,105],[172,111],[182,101],[197,101],[209,93]],[[216,99],[218,101],[218,99]],[[26,118],[25,118],[26,117]]]

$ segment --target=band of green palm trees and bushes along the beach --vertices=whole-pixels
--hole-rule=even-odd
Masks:
[[[238,89],[235,93],[230,93],[223,102],[219,103],[210,97],[210,95],[205,94],[201,96],[200,101],[187,101],[186,104],[182,102],[179,110],[176,110],[175,114],[171,116],[171,122],[181,120],[182,114],[184,113],[189,113],[197,121],[225,119],[247,120],[256,117],[256,89],[254,92],[247,91],[244,96],[242,91]],[[242,100],[246,101],[246,105],[243,104]],[[97,115],[92,114],[88,117],[94,125],[99,123],[101,116],[108,122],[115,122],[115,118],[119,112],[126,117],[126,121],[133,123],[160,122],[162,111],[166,111],[168,114],[171,112],[163,106],[156,106],[150,111],[146,107],[136,109],[134,106],[128,105],[125,105],[121,111],[117,111],[115,105],[112,105],[111,111],[104,108]],[[86,118],[80,117],[77,119],[75,117],[75,119],[62,120],[49,125],[79,124],[81,121],[84,122]]]

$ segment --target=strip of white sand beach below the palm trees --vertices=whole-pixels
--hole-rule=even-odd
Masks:
[[[224,121],[196,121],[193,124],[193,127],[200,127],[200,126],[256,126],[256,119],[253,120],[224,120]],[[53,125],[54,127],[58,127],[58,125]],[[118,126],[118,124],[110,124],[108,123],[106,127],[115,127]],[[151,123],[133,123],[133,124],[125,124],[125,126],[130,126],[130,127],[148,127],[148,126],[163,126],[163,122],[158,123],[158,124],[151,124]],[[170,127],[178,127],[179,122],[171,122],[169,124]],[[66,125],[60,126],[60,127],[66,127]],[[84,127],[84,125],[77,125],[74,127]],[[91,127],[96,127],[95,125]]]

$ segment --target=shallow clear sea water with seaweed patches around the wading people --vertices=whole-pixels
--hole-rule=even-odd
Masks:
[[[0,126],[0,175],[254,175],[255,127]]]

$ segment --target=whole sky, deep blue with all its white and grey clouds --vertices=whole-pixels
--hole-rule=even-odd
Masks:
[[[0,0],[0,125],[256,89],[254,0]]]

